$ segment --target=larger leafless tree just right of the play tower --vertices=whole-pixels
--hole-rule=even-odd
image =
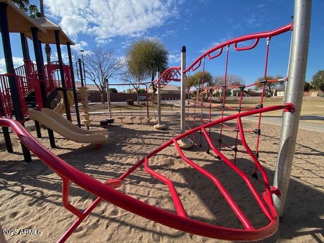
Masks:
[[[78,58],[78,53],[73,55]],[[123,63],[114,55],[114,50],[96,47],[84,55],[86,77],[95,83],[101,92],[101,103],[104,102],[106,79],[123,73]]]

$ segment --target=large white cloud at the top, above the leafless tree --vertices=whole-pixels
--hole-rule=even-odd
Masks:
[[[60,19],[70,35],[93,34],[97,42],[113,36],[137,37],[178,14],[176,0],[56,0],[44,1],[48,15]]]

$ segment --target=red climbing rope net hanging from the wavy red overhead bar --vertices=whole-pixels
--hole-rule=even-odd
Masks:
[[[276,78],[276,79],[267,79],[267,66],[268,66],[268,59],[269,59],[269,47],[270,47],[270,39],[272,36],[277,35],[282,32],[286,32],[287,30],[291,29],[290,25],[286,25],[282,28],[279,28],[277,30],[271,31],[271,32],[264,32],[264,33],[258,33],[258,34],[252,34],[252,35],[246,35],[241,38],[241,41],[247,41],[252,38],[256,37],[255,43],[250,46],[250,47],[237,47],[239,38],[232,39],[231,41],[225,42],[223,44],[218,45],[216,48],[213,48],[209,52],[206,52],[203,54],[203,56],[200,56],[199,59],[195,61],[197,63],[196,66],[191,65],[189,68],[185,70],[187,73],[187,90],[184,92],[187,94],[186,95],[186,104],[187,104],[187,109],[186,109],[186,128],[187,130],[191,130],[196,128],[197,126],[201,126],[204,124],[210,123],[215,117],[213,117],[212,110],[219,109],[220,114],[219,116],[216,117],[218,118],[223,118],[226,116],[225,112],[228,111],[230,113],[233,113],[233,111],[236,111],[238,114],[242,111],[249,111],[249,110],[254,110],[254,109],[261,109],[263,108],[263,101],[265,97],[265,92],[266,92],[266,86],[269,83],[284,83],[287,82],[288,77],[286,78]],[[228,84],[227,83],[227,76],[228,76],[228,66],[229,66],[229,50],[231,45],[234,46],[234,50],[236,51],[246,51],[246,50],[251,50],[257,46],[259,43],[259,39],[265,38],[266,39],[266,48],[265,48],[265,61],[264,61],[264,70],[263,70],[263,79],[259,80],[258,82],[255,82],[253,84],[249,85],[233,85],[233,84]],[[221,85],[216,85],[216,86],[205,86],[205,64],[206,64],[206,57],[208,59],[214,59],[216,57],[219,57],[223,49],[226,48],[226,58],[225,58],[225,65],[224,65],[224,75],[223,75],[223,84]],[[211,53],[219,50],[218,54],[211,56]],[[191,90],[190,89],[190,71],[195,71],[197,70],[202,63],[202,78],[201,78],[201,86],[199,86],[198,89],[196,90]],[[261,85],[261,94],[259,97],[259,104],[256,106],[250,106],[250,107],[245,107],[244,106],[244,99],[246,98],[245,96],[245,90],[249,87],[254,87],[256,85]],[[200,88],[201,87],[201,88]],[[234,93],[236,91],[236,99],[229,97],[230,93]],[[219,97],[214,98],[214,94],[219,95]],[[228,104],[229,99],[235,99],[238,101],[238,104],[236,106]],[[258,99],[258,97],[255,97]],[[255,99],[254,99],[255,102]],[[215,104],[216,103],[216,104]],[[207,114],[206,114],[207,113]],[[237,160],[237,153],[247,153],[246,151],[239,150],[237,148],[238,145],[238,134],[240,132],[240,129],[242,130],[241,132],[244,133],[253,133],[256,135],[256,145],[255,145],[255,150],[254,150],[254,155],[256,158],[259,157],[259,141],[260,141],[260,135],[261,135],[261,117],[262,113],[258,114],[258,120],[257,120],[257,126],[253,130],[243,130],[242,125],[239,124],[239,121],[237,120],[236,126],[233,127],[233,125],[226,124],[226,123],[220,123],[217,128],[214,128],[215,132],[218,133],[217,140],[218,143],[218,151],[221,152],[222,149],[227,148],[229,150],[232,150],[234,152],[234,164],[236,163]],[[240,128],[239,128],[240,127]],[[209,127],[208,133],[209,136],[211,136],[211,130],[212,127]],[[224,136],[224,131],[232,131],[235,132],[235,142],[234,145],[230,146],[229,144],[226,143],[226,141],[223,139]],[[198,137],[198,138],[197,138]],[[200,131],[198,136],[193,133],[191,138],[191,142],[193,144],[198,144],[201,147],[202,144],[202,139],[203,139],[203,133]],[[210,152],[210,146],[208,145],[207,152]],[[220,157],[218,156],[220,159]],[[257,168],[255,168],[255,172],[252,174],[253,177],[257,179]]]

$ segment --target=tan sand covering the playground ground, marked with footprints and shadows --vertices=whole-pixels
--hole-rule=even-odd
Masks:
[[[106,116],[92,115],[91,118],[94,119],[91,129],[97,129],[99,120]],[[138,159],[178,134],[178,115],[164,114],[163,121],[168,131],[157,131],[152,125],[117,122],[108,128],[108,142],[99,150],[95,150],[94,145],[75,143],[55,134],[57,147],[50,150],[80,171],[104,182],[117,178]],[[256,123],[243,123],[246,130],[255,129]],[[260,161],[272,184],[280,127],[262,124],[261,132]],[[36,137],[35,131],[31,133]],[[50,148],[46,130],[42,133],[44,138],[38,139],[39,142]],[[199,141],[199,134],[195,136]],[[11,137],[15,153],[9,154],[3,147],[0,150],[0,223],[3,229],[41,229],[42,234],[6,235],[6,239],[8,242],[56,242],[75,220],[75,216],[62,207],[61,179],[34,156],[32,163],[25,164],[17,137]],[[233,145],[234,137],[235,132],[225,131],[223,141]],[[217,141],[217,131],[212,130],[212,138]],[[246,139],[254,149],[255,135],[246,134]],[[184,153],[220,179],[254,226],[266,225],[267,220],[260,214],[242,180],[213,154],[207,154],[206,149],[203,142],[202,147],[194,146]],[[238,149],[242,149],[241,146]],[[280,220],[278,231],[259,242],[324,241],[323,150],[323,133],[299,130],[285,215]],[[226,151],[226,154],[233,159],[233,151]],[[149,160],[149,164],[151,169],[174,181],[191,218],[242,228],[215,185],[186,165],[174,146],[161,151]],[[248,173],[254,171],[246,154],[239,154],[237,164]],[[262,188],[258,181],[253,183],[258,189]],[[167,186],[149,176],[143,167],[131,174],[118,190],[150,205],[175,212]],[[93,199],[94,196],[71,184],[69,200],[73,206],[84,210]],[[67,242],[223,241],[171,229],[103,201]]]

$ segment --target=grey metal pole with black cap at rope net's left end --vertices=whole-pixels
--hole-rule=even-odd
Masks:
[[[180,133],[184,133],[186,131],[186,74],[183,73],[183,70],[186,69],[186,47],[183,46],[181,50],[181,106],[180,106]]]

